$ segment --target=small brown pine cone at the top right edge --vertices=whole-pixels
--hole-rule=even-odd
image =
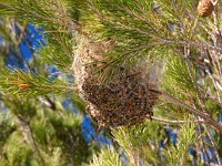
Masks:
[[[210,15],[213,10],[214,7],[211,0],[201,0],[198,4],[198,13],[203,18]]]

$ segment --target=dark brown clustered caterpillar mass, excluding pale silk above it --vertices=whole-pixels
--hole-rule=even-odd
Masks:
[[[82,90],[89,103],[88,112],[100,125],[132,125],[152,116],[152,107],[160,92],[153,90],[140,72],[121,72],[114,80],[104,84],[93,74],[89,75]]]

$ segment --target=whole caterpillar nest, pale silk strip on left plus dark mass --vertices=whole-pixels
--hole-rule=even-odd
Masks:
[[[144,77],[142,73],[144,68],[140,65],[133,68],[133,71],[122,69],[105,83],[101,81],[98,73],[94,73],[101,52],[105,52],[109,48],[101,43],[80,42],[80,50],[77,53],[79,60],[75,62],[74,72],[81,97],[88,105],[87,112],[101,126],[108,127],[133,125],[151,117],[160,92],[149,82],[149,79]]]

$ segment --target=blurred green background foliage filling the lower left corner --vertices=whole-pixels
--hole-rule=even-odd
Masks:
[[[95,147],[82,137],[81,120],[72,111],[59,105],[52,111],[34,98],[12,96],[6,106],[13,114],[10,121],[16,122],[11,126],[4,124],[10,122],[7,118],[1,122],[0,155],[9,165],[80,165]]]

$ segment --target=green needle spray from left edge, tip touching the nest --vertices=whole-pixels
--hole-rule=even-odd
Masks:
[[[43,95],[48,93],[62,94],[72,91],[68,83],[61,80],[51,81],[43,75],[27,73],[22,70],[0,69],[1,91],[11,94]]]

